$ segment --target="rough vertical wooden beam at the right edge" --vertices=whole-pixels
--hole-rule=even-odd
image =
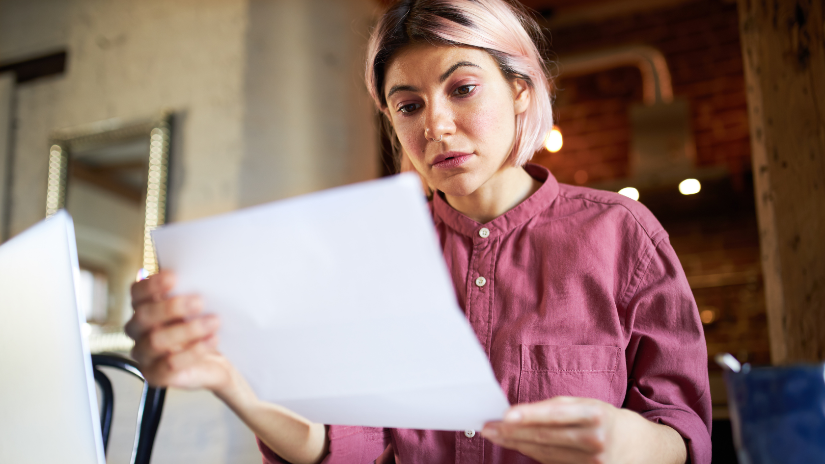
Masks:
[[[825,359],[822,0],[738,0],[773,363]]]

